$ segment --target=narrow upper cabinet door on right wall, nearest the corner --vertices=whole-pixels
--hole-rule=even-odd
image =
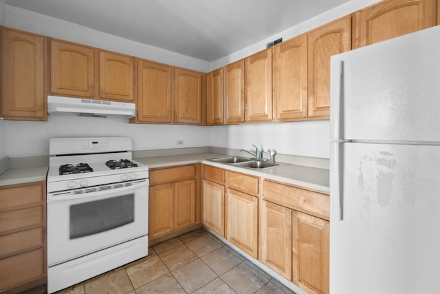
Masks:
[[[206,123],[223,125],[223,68],[210,72],[206,83]]]

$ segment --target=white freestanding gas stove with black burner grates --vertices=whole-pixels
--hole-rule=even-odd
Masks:
[[[130,138],[52,138],[49,165],[48,293],[148,254],[148,167]]]

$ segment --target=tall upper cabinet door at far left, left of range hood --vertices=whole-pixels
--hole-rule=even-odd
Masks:
[[[47,120],[43,90],[44,37],[1,30],[1,116]]]

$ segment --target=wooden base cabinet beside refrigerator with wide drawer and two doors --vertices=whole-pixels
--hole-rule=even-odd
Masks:
[[[261,262],[307,293],[329,293],[329,196],[263,180],[260,224]]]

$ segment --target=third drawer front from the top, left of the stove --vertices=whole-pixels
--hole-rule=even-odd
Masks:
[[[0,256],[43,244],[43,229],[36,228],[0,237]]]

